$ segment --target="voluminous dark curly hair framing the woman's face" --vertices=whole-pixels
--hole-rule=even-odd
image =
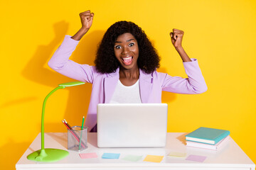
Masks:
[[[159,68],[160,57],[153,47],[144,30],[130,21],[119,21],[107,29],[105,35],[97,48],[95,66],[97,72],[102,74],[115,72],[119,62],[114,56],[114,42],[119,35],[131,33],[136,38],[139,46],[139,58],[137,64],[147,74]]]

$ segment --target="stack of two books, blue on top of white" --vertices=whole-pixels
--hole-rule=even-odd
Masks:
[[[230,131],[213,128],[198,128],[186,135],[186,146],[217,150],[228,140]]]

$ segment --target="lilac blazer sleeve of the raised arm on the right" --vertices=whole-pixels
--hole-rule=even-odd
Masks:
[[[170,91],[176,94],[201,94],[207,91],[206,81],[203,78],[198,61],[191,59],[192,62],[183,62],[188,78],[171,77],[164,75],[162,84],[163,91]]]

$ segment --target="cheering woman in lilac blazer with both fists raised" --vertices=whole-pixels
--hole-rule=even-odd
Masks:
[[[97,50],[95,66],[68,60],[79,40],[92,26],[94,13],[80,13],[82,28],[63,43],[48,62],[49,67],[67,77],[92,84],[85,125],[97,132],[98,103],[161,103],[161,91],[201,94],[207,90],[198,62],[181,46],[183,31],[174,29],[171,42],[183,60],[188,79],[156,72],[159,55],[136,24],[127,21],[108,28]]]

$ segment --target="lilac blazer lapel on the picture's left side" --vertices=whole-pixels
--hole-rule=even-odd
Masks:
[[[105,103],[110,103],[112,95],[114,94],[114,89],[117,86],[119,80],[119,68],[116,72],[107,74],[104,79],[104,91],[105,91]]]

